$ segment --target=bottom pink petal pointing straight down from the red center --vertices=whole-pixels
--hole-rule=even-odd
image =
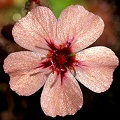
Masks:
[[[51,87],[56,78],[56,83]],[[56,115],[73,115],[82,105],[81,89],[70,73],[65,74],[63,84],[61,84],[60,77],[56,74],[49,76],[41,95],[41,106],[46,115],[52,117]]]

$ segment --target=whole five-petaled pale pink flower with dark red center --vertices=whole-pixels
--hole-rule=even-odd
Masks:
[[[115,53],[104,46],[85,49],[103,29],[103,20],[80,5],[67,7],[58,20],[47,7],[32,9],[12,31],[16,43],[30,51],[5,59],[10,88],[29,96],[44,85],[40,102],[46,115],[75,114],[83,105],[77,80],[96,93],[113,81],[119,62]]]

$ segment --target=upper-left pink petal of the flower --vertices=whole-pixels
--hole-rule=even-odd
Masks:
[[[20,46],[41,52],[48,49],[46,40],[53,41],[56,36],[56,21],[49,8],[39,6],[15,24],[12,34]]]

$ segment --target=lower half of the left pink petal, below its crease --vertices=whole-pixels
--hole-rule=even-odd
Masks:
[[[45,83],[46,76],[37,70],[21,71],[10,74],[10,88],[19,95],[29,96],[38,91]]]

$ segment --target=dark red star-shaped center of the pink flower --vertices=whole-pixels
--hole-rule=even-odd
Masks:
[[[52,42],[47,42],[50,50],[47,55],[47,60],[42,62],[41,67],[50,67],[52,72],[57,72],[63,79],[67,70],[74,69],[73,63],[75,62],[75,54],[72,53],[71,43],[65,43],[59,47],[55,46]]]

